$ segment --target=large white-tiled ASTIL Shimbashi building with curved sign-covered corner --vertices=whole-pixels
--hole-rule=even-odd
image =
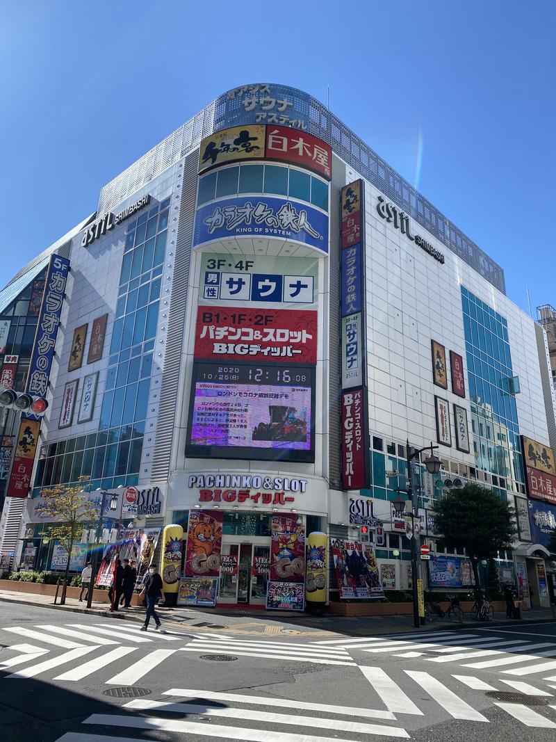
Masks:
[[[434,548],[437,480],[492,487],[520,513],[500,575],[547,603],[555,565],[529,528],[520,439],[554,444],[543,329],[503,269],[316,99],[228,91],[105,185],[0,294],[20,391],[52,255],[70,271],[30,497],[4,505],[6,559],[25,545],[49,566],[39,493],[88,476],[91,493],[139,490],[136,528],[182,525],[193,602],[294,605],[302,564],[275,559],[302,560],[311,531],[344,554],[370,539],[384,588],[407,589],[391,503],[409,441],[442,461],[438,476],[417,462],[421,536]],[[2,419],[9,461],[19,422]],[[192,555],[211,551],[196,577]],[[469,586],[465,555],[436,553],[429,584],[447,571]],[[348,594],[338,575],[332,599]]]

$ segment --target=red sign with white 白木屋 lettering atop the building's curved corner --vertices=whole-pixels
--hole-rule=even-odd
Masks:
[[[332,149],[322,139],[287,126],[267,126],[267,160],[293,162],[331,179]]]

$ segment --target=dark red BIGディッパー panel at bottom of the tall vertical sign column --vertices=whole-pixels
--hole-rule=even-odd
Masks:
[[[342,392],[342,486],[360,490],[365,481],[365,436],[363,390]]]

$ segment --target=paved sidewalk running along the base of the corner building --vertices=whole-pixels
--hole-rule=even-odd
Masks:
[[[53,605],[53,597],[50,595],[36,595],[24,592],[0,590],[0,601],[21,605],[34,605],[42,608],[54,608],[62,611],[74,611],[76,613],[93,614],[101,617],[113,617],[122,620],[142,621],[145,616],[143,608],[120,609],[117,613],[111,613],[108,603],[93,603],[87,608],[86,603],[79,603],[75,598],[67,598],[65,605]],[[158,610],[158,609],[157,609]],[[413,616],[373,616],[373,617],[344,617],[327,614],[322,617],[310,614],[299,614],[294,611],[257,611],[251,613],[245,610],[245,614],[227,613],[225,610],[202,611],[199,608],[163,608],[159,606],[160,617],[168,628],[189,629],[195,633],[206,632],[226,634],[259,634],[262,636],[272,635],[311,635],[314,638],[332,637],[334,635],[348,636],[374,636],[380,634],[409,633],[414,631]],[[434,621],[426,626],[421,626],[420,631],[449,631],[453,629],[484,628],[486,626],[523,626],[527,623],[544,623],[555,621],[556,618],[550,608],[526,611],[523,620],[507,620],[506,614],[494,614],[494,620],[489,623],[477,623],[477,621],[465,617],[463,623],[451,623],[450,621]]]

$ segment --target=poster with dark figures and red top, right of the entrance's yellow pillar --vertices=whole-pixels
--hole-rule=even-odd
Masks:
[[[340,600],[383,598],[377,559],[370,544],[331,539]]]

